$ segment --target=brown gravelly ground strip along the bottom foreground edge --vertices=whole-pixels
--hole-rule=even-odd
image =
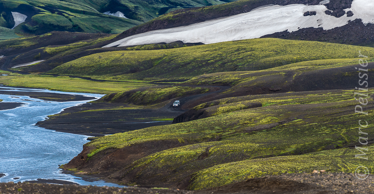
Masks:
[[[187,191],[145,187],[96,187],[78,185],[0,183],[2,194],[373,194],[374,176],[359,180],[351,173],[293,173],[251,178],[221,187]]]

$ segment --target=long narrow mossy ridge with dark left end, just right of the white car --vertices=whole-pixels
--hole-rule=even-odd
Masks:
[[[317,104],[345,100],[353,100],[354,90],[331,90],[315,92],[292,92],[263,95],[249,95],[240,97],[221,98],[193,107],[174,119],[174,123],[187,122],[208,118],[237,110],[251,109],[264,106],[280,106],[290,104]],[[372,92],[363,92],[370,95]]]

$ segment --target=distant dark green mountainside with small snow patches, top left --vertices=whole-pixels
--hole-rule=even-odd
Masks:
[[[16,26],[17,34],[40,35],[50,31],[116,34],[172,10],[222,3],[226,2],[219,0],[1,0],[0,26],[13,28],[15,25],[13,14],[18,12],[26,15],[27,18],[25,22]]]

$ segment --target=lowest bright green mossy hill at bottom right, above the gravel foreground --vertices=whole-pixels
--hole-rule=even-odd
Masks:
[[[362,148],[368,149],[367,154],[374,154],[373,145]],[[312,172],[313,170],[355,173],[356,168],[362,165],[372,172],[373,158],[369,157],[368,160],[355,158],[358,152],[354,148],[341,148],[300,156],[280,156],[217,165],[194,174],[193,182],[188,189],[200,190],[259,176]]]

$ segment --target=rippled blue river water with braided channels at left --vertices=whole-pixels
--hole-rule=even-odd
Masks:
[[[102,94],[6,88],[23,92],[83,95],[96,99],[104,96]],[[4,87],[0,85],[0,91],[2,90]],[[79,106],[92,100],[55,102],[3,94],[0,94],[0,99],[3,102],[25,103],[15,109],[0,110],[0,173],[6,175],[0,178],[0,182],[24,182],[41,178],[70,181],[80,185],[119,186],[98,179],[83,179],[62,173],[62,170],[58,169],[58,165],[68,163],[82,151],[83,144],[88,142],[86,139],[89,136],[56,132],[35,126],[38,121],[47,119],[48,115],[60,113],[68,107]]]

